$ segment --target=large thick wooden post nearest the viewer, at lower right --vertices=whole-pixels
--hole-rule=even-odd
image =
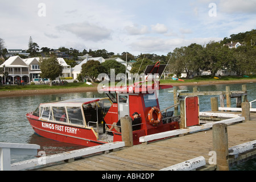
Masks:
[[[217,170],[229,171],[228,126],[218,123],[212,127],[213,150],[217,154]]]

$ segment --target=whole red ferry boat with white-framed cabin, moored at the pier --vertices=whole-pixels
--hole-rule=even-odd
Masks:
[[[150,73],[158,73],[166,65],[150,65]],[[158,90],[171,85],[159,85],[159,81],[147,79],[130,86],[104,88],[108,98],[76,98],[40,104],[26,115],[35,133],[60,142],[92,147],[122,141],[122,133],[109,131],[113,123],[134,113],[139,115],[133,125],[133,143],[145,135],[179,129],[173,111],[160,110]]]

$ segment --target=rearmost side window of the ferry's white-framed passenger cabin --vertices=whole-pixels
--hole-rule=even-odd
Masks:
[[[81,107],[67,107],[69,122],[75,125],[84,125]]]

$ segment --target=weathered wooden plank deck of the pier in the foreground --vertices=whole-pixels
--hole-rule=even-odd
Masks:
[[[239,114],[239,113],[238,113]],[[256,140],[256,113],[251,113],[251,121],[228,126],[229,147]],[[109,154],[84,156],[75,162],[48,165],[36,170],[43,171],[159,171],[187,160],[204,156],[206,165],[197,170],[214,170],[216,165],[209,165],[209,152],[213,151],[212,129],[200,131],[183,137],[174,137],[149,144],[122,148]],[[236,159],[229,159],[232,164],[237,160],[253,158],[256,151],[249,151]]]

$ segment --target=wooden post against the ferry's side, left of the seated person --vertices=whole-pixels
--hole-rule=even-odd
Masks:
[[[122,140],[125,142],[125,147],[133,146],[133,126],[131,117],[121,118]]]

